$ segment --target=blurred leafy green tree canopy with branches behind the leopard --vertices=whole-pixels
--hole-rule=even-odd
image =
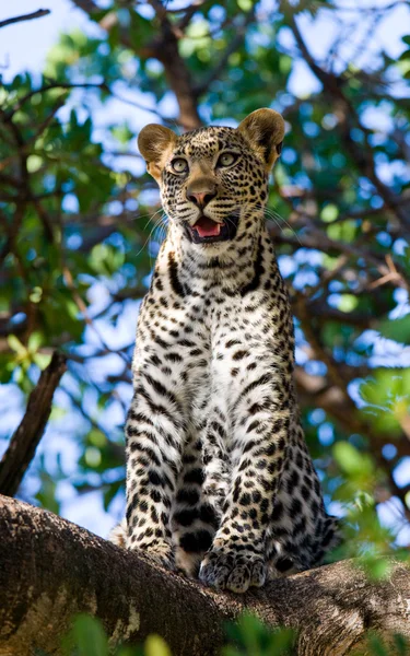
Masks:
[[[330,508],[348,519],[344,554],[374,563],[410,518],[410,37],[398,60],[367,48],[395,3],[349,16],[330,1],[154,5],[104,3],[60,37],[43,75],[4,72],[0,87],[4,447],[51,350],[69,356],[21,494],[63,513],[94,491],[106,511],[121,505],[134,325],[163,235],[136,132],[192,125],[197,109],[235,125],[271,106],[288,133],[268,220],[295,314],[306,437]],[[320,57],[317,24],[336,34]],[[169,30],[188,110],[163,55]],[[308,92],[297,87],[307,70]]]

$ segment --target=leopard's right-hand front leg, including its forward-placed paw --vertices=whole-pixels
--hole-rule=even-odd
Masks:
[[[292,412],[289,391],[285,400],[279,398],[272,374],[266,373],[245,387],[233,408],[230,493],[199,574],[203,583],[219,589],[244,593],[266,582],[266,542]]]

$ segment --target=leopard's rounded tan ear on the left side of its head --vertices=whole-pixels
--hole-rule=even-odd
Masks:
[[[160,181],[161,172],[176,140],[175,132],[156,124],[145,126],[138,136],[138,148],[147,162],[147,171],[156,181]]]

